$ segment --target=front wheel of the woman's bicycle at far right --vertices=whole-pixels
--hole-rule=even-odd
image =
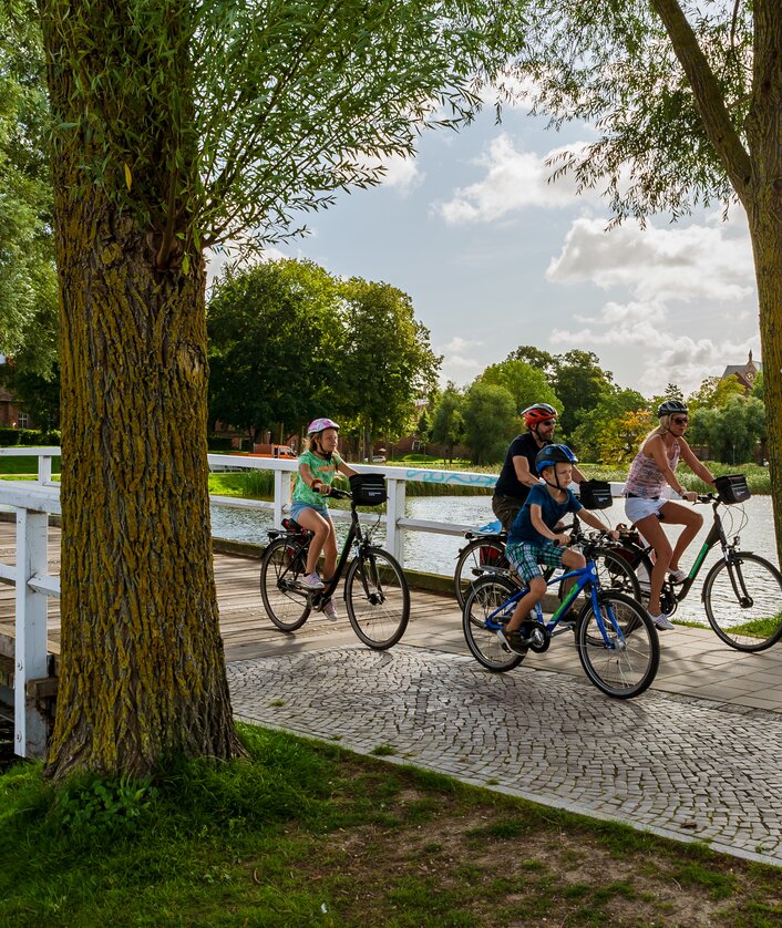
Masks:
[[[716,564],[703,606],[718,638],[739,651],[763,651],[782,638],[782,576],[758,555],[737,551]]]

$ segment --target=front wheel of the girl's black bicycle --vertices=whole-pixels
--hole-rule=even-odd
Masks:
[[[383,651],[404,635],[410,621],[410,587],[398,561],[382,548],[363,548],[344,580],[348,618],[370,648]]]

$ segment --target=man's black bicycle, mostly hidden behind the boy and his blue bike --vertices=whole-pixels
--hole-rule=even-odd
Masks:
[[[580,532],[578,516],[574,516],[573,524],[565,526],[564,530],[577,535]],[[464,609],[473,585],[481,577],[500,575],[518,581],[505,556],[506,532],[467,532],[464,537],[467,544],[456,555],[456,568],[453,571],[453,591],[460,609]],[[605,548],[596,555],[595,565],[604,589],[615,589],[640,601],[640,580],[625,557]],[[554,568],[544,569],[546,580],[553,574]],[[560,597],[562,595],[560,588]]]

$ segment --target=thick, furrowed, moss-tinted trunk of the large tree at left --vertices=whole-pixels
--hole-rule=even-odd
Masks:
[[[52,6],[41,2],[52,110],[78,122],[68,20],[55,28]],[[54,779],[143,775],[176,754],[240,753],[212,563],[203,261],[160,269],[160,239],[85,178],[84,148],[72,132],[53,158],[62,377]]]

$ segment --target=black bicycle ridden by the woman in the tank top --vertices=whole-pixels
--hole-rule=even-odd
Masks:
[[[718,477],[718,485],[722,478]],[[741,494],[741,502],[749,498],[749,489]],[[738,530],[729,540],[719,507],[735,505],[737,498],[713,493],[699,495],[697,502],[710,505],[713,522],[694,559],[687,579],[675,585],[670,578],[662,584],[660,608],[672,616],[687,597],[698,578],[709,551],[717,545],[722,557],[711,567],[703,580],[701,600],[709,625],[718,638],[738,651],[764,651],[782,639],[782,574],[773,564],[752,551],[739,550],[740,532],[747,524],[743,508]],[[731,529],[732,530],[732,529]],[[651,546],[642,545],[637,532],[624,533],[621,556],[638,575],[641,604],[649,600],[649,585],[654,567]]]

